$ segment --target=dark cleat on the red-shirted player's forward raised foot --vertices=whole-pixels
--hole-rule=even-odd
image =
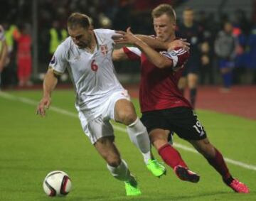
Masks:
[[[200,176],[198,176],[196,173],[193,173],[191,170],[188,170],[188,168],[182,167],[181,165],[177,165],[174,168],[174,172],[181,180],[189,181],[192,183],[198,183],[200,179]]]

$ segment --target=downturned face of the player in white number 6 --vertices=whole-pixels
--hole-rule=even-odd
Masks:
[[[81,26],[76,26],[75,28],[68,27],[68,34],[72,38],[75,45],[78,45],[79,48],[90,47],[92,43],[92,28],[82,28]]]

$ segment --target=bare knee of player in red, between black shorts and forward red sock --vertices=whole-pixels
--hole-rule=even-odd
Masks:
[[[151,143],[154,145],[156,149],[161,148],[162,146],[168,143],[168,135],[170,131],[164,129],[154,129],[150,131],[149,138]]]

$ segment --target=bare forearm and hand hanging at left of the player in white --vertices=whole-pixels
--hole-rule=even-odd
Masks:
[[[51,93],[58,83],[58,73],[52,68],[49,68],[46,72],[46,77],[43,80],[43,98],[38,104],[36,114],[46,116],[46,109],[50,107]]]

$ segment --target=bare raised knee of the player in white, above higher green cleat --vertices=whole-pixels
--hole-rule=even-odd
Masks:
[[[114,120],[125,125],[137,119],[134,105],[128,99],[119,99],[114,105]]]

